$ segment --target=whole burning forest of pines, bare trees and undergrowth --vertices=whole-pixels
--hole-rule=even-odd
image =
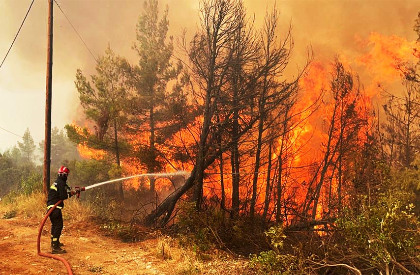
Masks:
[[[183,171],[82,199],[245,255],[259,274],[420,274],[419,50],[394,60],[404,89],[378,85],[380,99],[346,60],[320,67],[310,47],[291,75],[280,9],[256,26],[241,0],[201,0],[196,32],[175,39],[170,7],[146,0],[137,63],[108,46],[94,75],[75,72],[84,123],[52,130],[52,180],[60,165],[81,186]],[[413,31],[419,42],[420,12]],[[27,130],[0,155],[2,200],[42,191],[37,145]]]

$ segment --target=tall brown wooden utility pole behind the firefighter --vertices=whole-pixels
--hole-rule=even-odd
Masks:
[[[48,193],[51,165],[51,98],[53,83],[53,0],[48,0],[47,35],[47,91],[45,94],[45,139],[44,139],[44,177],[43,191]]]

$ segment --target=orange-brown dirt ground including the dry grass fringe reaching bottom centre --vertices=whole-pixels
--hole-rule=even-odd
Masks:
[[[0,275],[67,275],[63,262],[37,253],[37,236],[41,220],[15,217],[0,219]],[[51,252],[51,222],[47,220],[41,234],[41,252]],[[145,230],[145,236],[148,234]],[[180,255],[164,259],[159,238],[150,234],[137,243],[123,243],[111,238],[95,223],[69,223],[64,220],[60,238],[73,275],[249,275],[246,259],[227,257],[221,252],[209,261],[200,262]],[[165,251],[166,252],[166,251]]]

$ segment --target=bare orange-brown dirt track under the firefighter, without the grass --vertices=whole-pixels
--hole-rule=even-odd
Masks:
[[[67,269],[59,260],[37,254],[37,236],[40,220],[0,220],[0,274],[4,275],[65,275]],[[41,234],[41,252],[50,253],[50,227],[48,220]],[[65,224],[64,224],[65,226]],[[74,275],[146,275],[176,274],[175,264],[153,256],[150,247],[157,239],[139,243],[122,243],[90,225],[64,227],[60,241],[64,243],[68,261]]]

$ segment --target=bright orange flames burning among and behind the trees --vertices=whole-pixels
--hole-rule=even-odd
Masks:
[[[366,68],[369,72],[368,81],[373,82],[392,82],[401,78],[401,64],[413,60],[413,53],[415,52],[415,42],[407,41],[405,38],[397,37],[395,35],[385,36],[379,33],[371,33],[365,40],[357,38],[360,46],[365,50],[365,53],[360,56],[346,56],[341,55],[339,60],[342,61],[344,67],[351,71],[352,65],[360,65]],[[323,127],[325,122],[330,121],[333,108],[333,100],[328,97],[322,97],[323,102],[318,110],[315,110],[316,100],[320,95],[328,94],[330,90],[331,74],[333,73],[332,62],[324,62],[321,60],[313,61],[310,65],[310,70],[300,81],[300,100],[295,104],[291,110],[291,114],[295,117],[291,121],[290,129],[287,134],[280,137],[271,152],[271,161],[274,164],[280,162],[283,165],[282,174],[280,177],[275,175],[275,169],[272,170],[270,176],[272,177],[271,184],[274,185],[274,177],[278,177],[282,185],[282,193],[278,194],[275,187],[271,191],[270,211],[274,212],[275,205],[272,199],[273,195],[280,196],[284,201],[293,201],[296,205],[301,205],[307,197],[307,194],[314,188],[311,182],[319,179],[316,175],[316,169],[322,160],[322,153],[327,137],[327,131]],[[354,97],[346,99],[347,101],[354,100]],[[371,126],[376,123],[376,118],[371,115],[372,102],[380,100],[378,89],[373,85],[368,85],[363,89],[356,101],[355,110],[360,118],[364,118],[366,123],[363,124],[358,133],[360,144],[365,141],[366,135]],[[311,114],[314,112],[313,114]],[[173,152],[177,150],[184,150],[185,148],[194,151],[196,142],[199,140],[199,125],[203,121],[202,117],[198,117],[196,121],[189,125],[189,128],[180,129],[170,140],[164,145],[158,146],[158,150],[162,152]],[[299,123],[298,123],[299,122]],[[336,127],[340,127],[340,122],[336,122]],[[80,128],[81,129],[81,128]],[[148,133],[133,134],[127,136],[129,143],[133,146],[133,150],[138,150],[141,146],[149,144],[150,136]],[[284,144],[282,151],[280,144]],[[87,148],[84,145],[79,145],[79,152],[81,155],[89,156],[90,158],[104,157],[105,152]],[[258,186],[257,186],[257,203],[256,211],[262,211],[264,206],[267,184],[267,148],[264,149],[264,160],[258,172]],[[288,156],[285,158],[281,156],[280,152]],[[194,157],[192,157],[194,159]],[[253,182],[253,163],[252,157],[242,157],[240,171],[240,198],[249,199],[251,197],[251,187]],[[159,172],[173,172],[177,169],[184,171],[191,171],[193,168],[193,161],[169,159],[169,163],[164,167],[164,171]],[[336,160],[334,160],[336,161]],[[223,154],[223,183],[226,207],[232,199],[232,172],[230,164],[230,152]],[[219,160],[211,165],[206,170],[206,177],[204,179],[203,195],[207,198],[215,198],[220,201],[221,197],[221,176]],[[147,173],[145,165],[141,164],[135,157],[125,157],[121,159],[121,166],[123,167],[124,176]],[[314,178],[318,177],[318,178]],[[330,192],[337,192],[338,179],[330,170],[326,173],[326,184],[323,185],[320,192],[319,203],[316,206],[316,219],[322,219],[323,215],[330,211],[328,194]],[[328,184],[327,184],[328,183]],[[170,192],[174,190],[172,182],[168,179],[157,179],[155,182],[157,192]],[[124,182],[127,188],[134,189],[148,189],[150,187],[150,180],[147,178],[134,178]],[[291,214],[287,209],[279,210],[283,215]]]

